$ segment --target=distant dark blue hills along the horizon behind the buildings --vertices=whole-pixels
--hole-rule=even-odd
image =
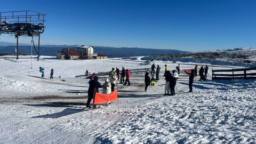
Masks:
[[[1,45],[1,43],[0,43]],[[74,48],[74,45],[42,45],[41,46],[41,55],[50,55],[55,56],[55,53],[61,51],[64,48]],[[129,57],[130,52],[132,56],[146,56],[146,55],[155,55],[155,54],[167,54],[167,53],[187,53],[185,51],[179,50],[167,50],[167,49],[147,49],[147,48],[138,48],[138,47],[105,47],[105,46],[93,46],[94,53],[101,53],[107,55],[109,58],[119,58],[119,57]],[[30,54],[30,46],[21,45],[19,46],[20,54]],[[3,45],[0,46],[0,53],[15,53],[14,45]],[[34,48],[33,53],[36,54]]]

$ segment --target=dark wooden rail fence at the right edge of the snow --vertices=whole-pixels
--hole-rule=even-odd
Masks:
[[[255,68],[241,68],[241,69],[220,69],[212,70],[212,79],[256,79]],[[223,72],[226,72],[223,74]],[[236,74],[234,74],[234,72]],[[218,74],[219,73],[219,74]],[[227,74],[232,73],[232,74]]]

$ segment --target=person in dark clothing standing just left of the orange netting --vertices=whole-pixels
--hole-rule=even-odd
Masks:
[[[88,100],[86,103],[86,108],[90,107],[90,102],[94,98],[95,93],[99,92],[99,88],[102,88],[103,86],[98,82],[99,77],[95,76],[94,79],[91,79],[89,81],[89,89],[88,89]],[[95,92],[94,92],[95,91]]]

